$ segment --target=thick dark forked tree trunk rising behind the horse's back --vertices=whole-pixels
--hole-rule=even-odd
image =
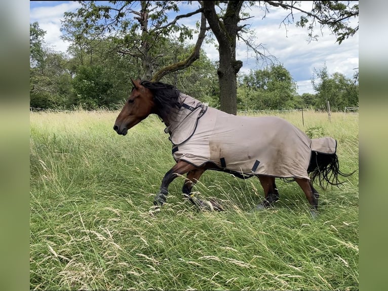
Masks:
[[[214,1],[204,1],[204,14],[218,41],[219,68],[217,70],[220,86],[220,109],[226,113],[237,115],[237,73],[243,66],[236,60],[236,37],[240,10],[244,1],[229,1],[223,21],[215,11]]]

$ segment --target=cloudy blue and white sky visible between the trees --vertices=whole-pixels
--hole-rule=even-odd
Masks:
[[[302,2],[305,10],[311,9],[312,2]],[[46,31],[45,43],[55,51],[66,52],[69,43],[60,39],[61,19],[66,11],[75,11],[80,7],[77,2],[71,1],[33,1],[30,2],[30,23],[37,21]],[[199,4],[195,1],[192,5],[180,7],[180,13],[197,9]],[[335,35],[327,28],[315,28],[319,34],[318,41],[308,41],[307,28],[296,27],[294,23],[285,26],[282,21],[289,12],[281,8],[270,7],[265,14],[260,7],[247,8],[250,18],[242,24],[253,31],[256,45],[265,48],[267,55],[275,56],[278,61],[290,72],[291,77],[298,85],[298,93],[316,93],[311,80],[314,70],[319,71],[325,62],[329,75],[340,72],[347,78],[353,78],[359,66],[359,35],[344,40],[341,45],[336,43]],[[294,13],[294,21],[300,18],[300,13]],[[264,17],[265,16],[265,17]],[[174,17],[174,15],[172,15]],[[264,18],[263,18],[264,17]],[[182,18],[178,23],[195,28],[198,17]],[[358,21],[355,20],[355,21]],[[287,23],[287,21],[285,21]],[[195,43],[196,37],[188,43]],[[212,44],[204,42],[202,48],[209,59],[218,60],[218,51]],[[236,58],[243,61],[240,72],[247,74],[250,69],[262,69],[263,62],[258,62],[252,51],[247,50],[243,42],[238,42]]]

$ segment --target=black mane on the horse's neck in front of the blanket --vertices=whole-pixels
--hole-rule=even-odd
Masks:
[[[173,108],[180,108],[180,91],[173,85],[162,82],[141,81],[140,85],[149,89],[153,94],[153,101],[156,105],[158,115],[165,120]]]

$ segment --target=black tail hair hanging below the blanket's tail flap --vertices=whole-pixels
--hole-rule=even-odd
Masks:
[[[354,171],[355,172],[355,171]],[[311,174],[311,181],[314,183],[315,179],[319,179],[319,186],[326,189],[327,185],[338,186],[343,182],[338,180],[338,175],[348,177],[354,172],[345,174],[339,170],[338,157],[334,154],[322,154],[312,151],[310,163],[307,168],[307,173]]]

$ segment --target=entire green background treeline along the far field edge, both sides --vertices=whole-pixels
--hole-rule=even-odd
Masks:
[[[142,75],[141,63],[118,52],[117,40],[73,43],[68,54],[56,52],[43,41],[45,31],[37,22],[30,24],[30,106],[34,108],[70,109],[82,106],[119,108],[129,96],[130,78]],[[192,47],[166,38],[153,54],[157,71],[172,62],[187,58]],[[174,84],[182,92],[211,106],[219,106],[217,62],[201,50],[200,58],[189,67],[172,72],[161,80]],[[284,110],[326,107],[332,110],[358,106],[358,83],[336,72],[329,76],[326,65],[316,71],[313,88],[316,94],[297,94],[297,85],[282,65],[273,65],[249,74],[238,75],[238,110]]]

